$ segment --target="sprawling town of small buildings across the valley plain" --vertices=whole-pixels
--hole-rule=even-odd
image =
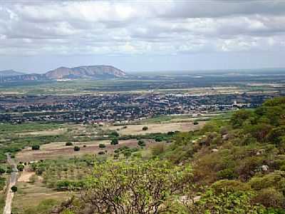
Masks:
[[[82,96],[1,96],[0,121],[130,123],[162,115],[254,108],[272,94],[105,93]]]

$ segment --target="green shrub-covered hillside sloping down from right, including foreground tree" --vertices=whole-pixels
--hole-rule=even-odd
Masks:
[[[68,184],[83,195],[53,212],[284,214],[284,115],[285,98],[275,98],[176,133],[148,160],[94,163],[86,183]]]

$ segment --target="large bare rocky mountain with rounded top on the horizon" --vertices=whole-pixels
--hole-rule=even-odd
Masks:
[[[79,66],[75,68],[60,67],[45,74],[48,79],[60,78],[118,78],[125,72],[113,66]]]

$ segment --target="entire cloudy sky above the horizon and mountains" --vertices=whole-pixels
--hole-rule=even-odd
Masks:
[[[0,70],[285,67],[285,1],[0,0]]]

